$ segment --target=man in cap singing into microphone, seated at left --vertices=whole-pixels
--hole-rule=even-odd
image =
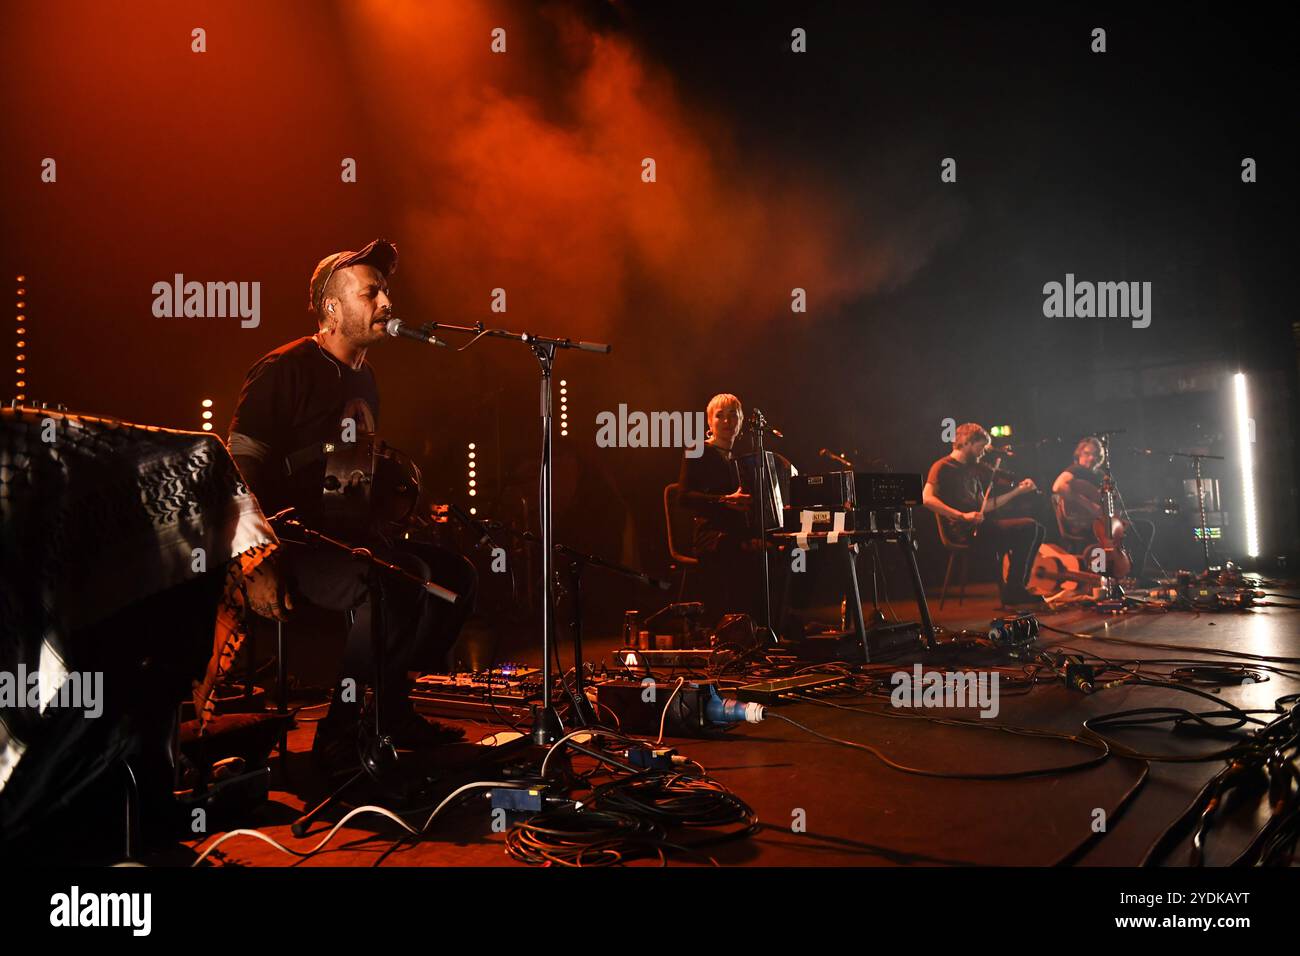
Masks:
[[[244,378],[230,423],[230,453],[261,510],[312,514],[321,501],[326,442],[348,441],[348,433],[374,433],[380,392],[367,350],[386,337],[393,302],[389,277],[398,250],[374,239],[358,252],[335,252],[312,273],[308,312],[316,333],[282,345],[259,359]],[[304,519],[304,523],[311,524]],[[386,631],[381,713],[398,747],[452,743],[455,728],[421,718],[411,706],[407,671],[437,666],[472,610],[476,572],[464,557],[428,544],[376,537],[348,541],[411,574],[460,594],[455,605],[439,601],[411,581],[385,585]],[[348,633],[339,684],[329,713],[317,724],[313,754],[330,773],[356,765],[360,692],[343,693],[372,679],[368,564],[328,546],[283,542],[285,607],[306,600],[328,610],[356,610]]]

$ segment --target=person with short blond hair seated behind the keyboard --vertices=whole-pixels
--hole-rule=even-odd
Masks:
[[[753,497],[741,486],[734,449],[745,410],[736,395],[720,393],[708,399],[706,415],[703,454],[684,455],[677,477],[677,502],[696,516],[693,546],[699,559],[701,598],[710,619],[745,613],[760,620],[760,541],[750,527]]]

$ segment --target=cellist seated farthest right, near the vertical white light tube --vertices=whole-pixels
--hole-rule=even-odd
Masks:
[[[1122,518],[1122,509],[1114,506],[1108,520],[1104,489],[1109,476],[1104,473],[1105,464],[1105,451],[1095,437],[1088,436],[1075,445],[1074,463],[1052,485],[1052,493],[1061,498],[1061,523],[1066,535],[1089,542],[1082,557],[1087,557],[1093,548],[1101,548],[1106,553],[1108,574],[1140,578],[1156,525]],[[1134,533],[1128,535],[1128,531]],[[1135,546],[1130,548],[1130,544]]]

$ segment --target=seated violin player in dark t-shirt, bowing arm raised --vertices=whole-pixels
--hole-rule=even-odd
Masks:
[[[957,427],[953,450],[930,467],[922,503],[944,525],[945,536],[959,544],[982,545],[1001,559],[1002,580],[998,593],[1004,605],[1041,604],[1026,584],[1046,532],[1032,518],[1000,518],[996,512],[1008,503],[1037,488],[1032,479],[1013,481],[1010,490],[994,490],[996,471],[983,464],[989,436],[974,421]]]

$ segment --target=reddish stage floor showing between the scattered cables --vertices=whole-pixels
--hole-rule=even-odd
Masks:
[[[1288,592],[1291,593],[1291,592]],[[1294,598],[1292,598],[1292,602]],[[998,617],[988,585],[975,587],[962,605],[949,601],[942,610],[931,605],[936,623],[950,631],[985,631]],[[893,610],[914,619],[915,609],[896,601]],[[1222,649],[1269,657],[1300,657],[1300,611],[1266,607],[1245,613],[1130,613],[1101,615],[1062,611],[1040,615],[1045,624],[1075,632],[1066,636],[1044,631],[1040,644],[1075,648],[1112,661],[1201,659],[1222,662],[1208,653]],[[1101,640],[1108,639],[1108,640]],[[1179,649],[1161,648],[1180,645]],[[608,659],[610,641],[592,640],[588,659]],[[526,648],[507,649],[519,659],[532,659]],[[517,650],[517,653],[516,653]],[[562,653],[567,653],[567,645]],[[498,654],[502,653],[498,650]],[[533,654],[532,657],[536,657]],[[992,654],[953,656],[942,649],[892,661],[894,670],[926,670],[948,665],[958,670],[1008,663]],[[1152,665],[1154,666],[1154,665]],[[1269,709],[1278,697],[1300,692],[1300,682],[1277,674],[1248,685],[1201,685],[1243,708]],[[1080,743],[1057,737],[996,732],[982,727],[898,719],[888,701],[842,702],[874,714],[838,710],[812,702],[780,706],[779,711],[822,734],[878,748],[900,763],[936,771],[1014,771],[1075,763],[1095,753]],[[1164,687],[1119,685],[1091,696],[1061,682],[1040,683],[1027,692],[1006,689],[996,718],[982,724],[1080,734],[1089,717],[1134,708],[1213,709],[1204,697]],[[320,709],[311,711],[320,714]],[[916,713],[916,711],[913,711]],[[927,717],[976,717],[976,711],[924,710]],[[306,715],[306,713],[304,713]],[[1264,715],[1266,718],[1266,715]],[[471,740],[493,734],[484,723],[464,723]],[[289,736],[287,767],[272,758],[272,801],[243,821],[268,836],[299,851],[316,843],[342,817],[334,810],[299,840],[289,823],[321,788],[309,750],[312,723],[302,723]],[[1128,747],[1161,754],[1197,754],[1219,749],[1236,734],[1214,737],[1173,734],[1167,724],[1144,731],[1117,731]],[[1197,791],[1223,762],[1147,762],[1112,756],[1100,766],[1071,773],[1004,780],[953,780],[900,773],[876,757],[826,743],[779,719],[742,724],[723,739],[670,739],[679,750],[701,763],[758,813],[760,830],[749,839],[710,849],[723,865],[758,866],[916,866],[916,865],[1032,865],[1076,862],[1089,866],[1134,866],[1161,832],[1193,801]],[[465,747],[452,748],[460,752]],[[286,775],[287,770],[287,775]],[[1135,790],[1136,788],[1136,790]],[[1117,816],[1117,808],[1126,803]],[[1247,800],[1230,808],[1210,832],[1206,861],[1230,862],[1266,819],[1261,801]],[[422,821],[425,810],[420,816]],[[1104,819],[1105,831],[1097,832]],[[793,825],[803,822],[798,830]],[[426,839],[394,849],[400,830],[377,816],[359,817],[343,827],[329,845],[299,861],[246,836],[228,840],[209,861],[229,866],[520,866],[504,852],[500,832],[493,832],[482,799],[439,816]],[[213,838],[207,836],[166,852],[148,862],[186,865]],[[1187,862],[1186,844],[1167,865]],[[672,858],[672,865],[698,865],[698,860]],[[646,865],[653,865],[646,861]]]

